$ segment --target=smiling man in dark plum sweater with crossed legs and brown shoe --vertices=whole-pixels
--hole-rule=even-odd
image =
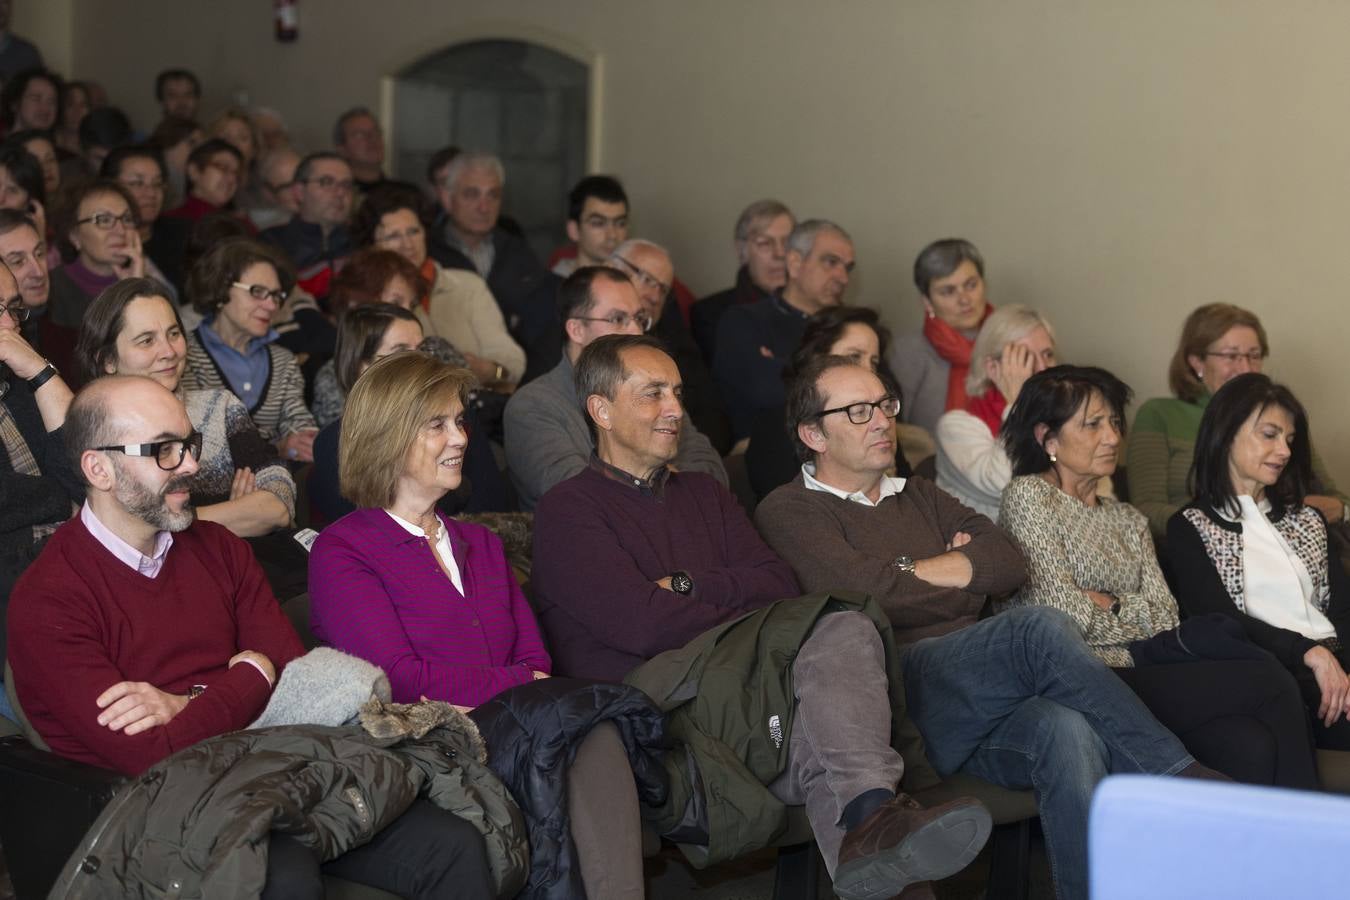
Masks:
[[[533,584],[555,672],[618,680],[714,626],[799,594],[791,568],[725,487],[670,468],[686,420],[679,368],[659,341],[599,337],[576,359],[575,383],[597,453],[535,514]],[[771,656],[790,660],[796,706],[786,766],[767,788],[806,807],[845,900],[907,888],[907,899],[932,896],[921,882],[964,868],[990,828],[973,800],[925,810],[896,793],[905,762],[890,743],[882,641],[865,614],[838,611],[817,621],[795,656]],[[699,702],[736,706],[740,698],[705,692]],[[706,726],[741,762],[756,741],[775,739],[772,729],[734,730],[734,719],[711,712]],[[714,792],[707,803],[720,800]],[[714,820],[703,819],[705,827]]]

